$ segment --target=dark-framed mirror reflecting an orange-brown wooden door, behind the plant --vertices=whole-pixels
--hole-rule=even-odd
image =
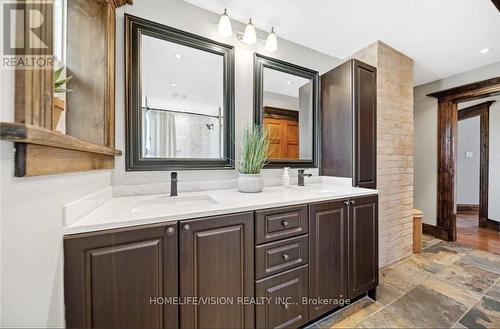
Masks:
[[[271,138],[266,167],[318,167],[317,71],[255,54],[254,118]]]

